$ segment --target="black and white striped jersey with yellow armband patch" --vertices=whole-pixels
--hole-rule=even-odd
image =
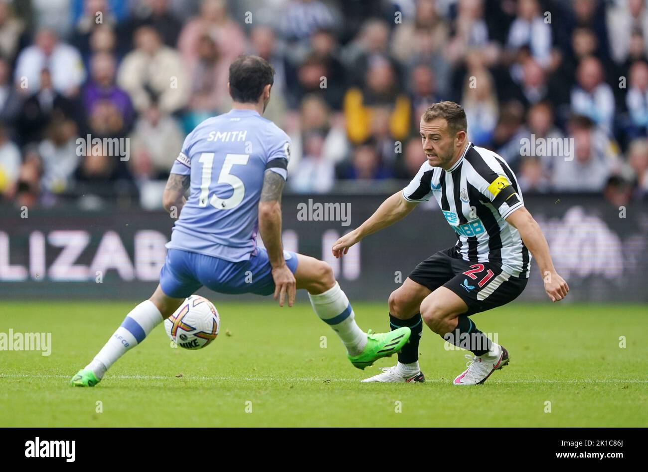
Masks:
[[[496,263],[511,276],[529,277],[529,250],[505,220],[524,200],[502,156],[468,143],[447,171],[425,161],[402,195],[409,202],[434,195],[457,233],[456,250],[466,261]]]

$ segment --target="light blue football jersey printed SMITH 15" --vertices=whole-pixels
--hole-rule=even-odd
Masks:
[[[187,136],[172,174],[191,174],[191,195],[168,249],[246,261],[257,250],[263,174],[286,178],[290,138],[254,110],[206,119]]]

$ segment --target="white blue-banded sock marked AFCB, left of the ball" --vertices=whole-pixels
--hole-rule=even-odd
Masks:
[[[101,379],[117,359],[122,357],[128,349],[141,343],[148,333],[162,321],[162,314],[156,305],[150,300],[143,301],[126,315],[117,331],[101,348],[95,359],[86,366],[86,369],[92,370],[97,379]]]

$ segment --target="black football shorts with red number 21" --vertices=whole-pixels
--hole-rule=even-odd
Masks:
[[[436,252],[416,266],[410,279],[434,290],[446,287],[468,305],[471,314],[501,307],[526,287],[527,277],[514,277],[495,263],[465,261],[454,248]]]

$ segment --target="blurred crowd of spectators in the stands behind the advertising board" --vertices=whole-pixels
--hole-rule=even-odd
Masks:
[[[0,0],[0,195],[159,206],[250,53],[275,67],[294,192],[410,179],[422,111],[454,100],[522,191],[625,204],[648,193],[647,52],[644,0]]]

